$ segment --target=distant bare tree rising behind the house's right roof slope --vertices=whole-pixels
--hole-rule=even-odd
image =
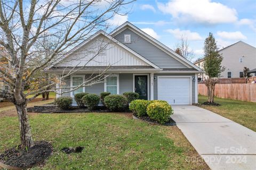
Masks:
[[[179,43],[176,44],[175,50],[177,54],[191,61],[194,57],[193,50],[189,48],[188,38],[181,36]]]

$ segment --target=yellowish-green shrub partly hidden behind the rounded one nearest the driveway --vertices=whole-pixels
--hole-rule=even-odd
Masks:
[[[133,100],[130,103],[129,109],[138,117],[147,115],[147,107],[153,101],[151,100]]]

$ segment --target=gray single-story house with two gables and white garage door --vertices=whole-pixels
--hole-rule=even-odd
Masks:
[[[101,46],[104,48],[100,49]],[[123,94],[134,91],[140,99],[166,100],[172,105],[197,103],[197,74],[203,72],[130,22],[110,34],[98,31],[45,71],[58,76],[73,67],[79,70],[67,78],[61,93],[104,70],[106,78],[62,96],[74,97],[77,92]]]

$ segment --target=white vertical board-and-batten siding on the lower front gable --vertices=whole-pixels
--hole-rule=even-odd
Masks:
[[[104,43],[99,41],[102,40]],[[103,44],[103,45],[102,45]],[[100,49],[102,53],[99,53]],[[97,55],[98,54],[98,55]],[[95,56],[97,55],[97,56]],[[93,60],[92,60],[93,59]],[[149,65],[125,48],[111,41],[103,39],[102,36],[91,41],[89,44],[78,48],[55,66],[132,66]]]

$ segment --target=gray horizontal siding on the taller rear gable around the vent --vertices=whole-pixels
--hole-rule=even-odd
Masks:
[[[131,35],[130,44],[124,43],[125,34]],[[163,50],[149,43],[149,41],[140,37],[130,29],[125,29],[114,38],[161,68],[187,68],[186,65],[175,60],[172,56],[166,54]]]

